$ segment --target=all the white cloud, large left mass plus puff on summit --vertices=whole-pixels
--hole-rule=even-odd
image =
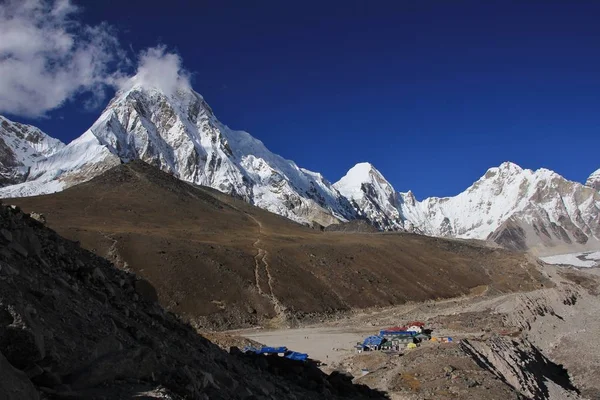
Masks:
[[[85,93],[83,108],[105,101],[106,89],[156,87],[167,95],[190,88],[181,57],[164,45],[140,52],[133,64],[116,30],[77,20],[70,0],[6,0],[0,3],[0,113],[43,117]]]

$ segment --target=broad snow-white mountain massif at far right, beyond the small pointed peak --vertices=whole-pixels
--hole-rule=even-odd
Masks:
[[[457,196],[403,203],[402,215],[429,235],[515,249],[600,246],[599,193],[545,168],[503,163]]]

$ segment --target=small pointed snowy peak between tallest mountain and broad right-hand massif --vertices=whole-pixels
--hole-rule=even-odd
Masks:
[[[334,185],[357,213],[381,230],[404,229],[398,193],[370,163],[359,163]]]

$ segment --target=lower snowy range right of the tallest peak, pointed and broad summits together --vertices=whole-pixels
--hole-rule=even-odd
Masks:
[[[396,192],[368,163],[357,164],[334,187],[384,230],[490,239],[537,253],[600,248],[600,193],[543,168],[506,162],[454,197],[423,201]]]

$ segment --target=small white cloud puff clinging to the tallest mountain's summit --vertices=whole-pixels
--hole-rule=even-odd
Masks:
[[[154,87],[169,96],[179,89],[189,89],[190,74],[181,64],[181,57],[167,52],[165,46],[149,48],[140,53],[135,76],[121,80],[119,87],[121,90],[133,86]]]

